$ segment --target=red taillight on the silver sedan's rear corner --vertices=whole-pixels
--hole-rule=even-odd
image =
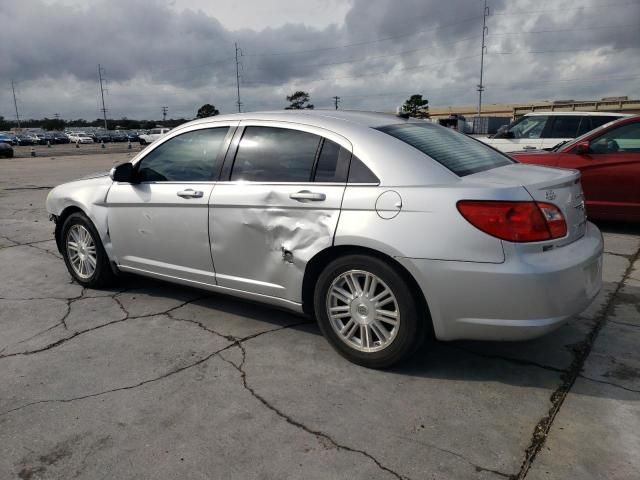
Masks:
[[[539,242],[567,234],[562,212],[551,203],[461,200],[457,207],[474,227],[510,242]]]

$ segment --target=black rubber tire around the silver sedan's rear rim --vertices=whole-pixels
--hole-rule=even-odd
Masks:
[[[342,274],[352,270],[375,275],[395,297],[400,321],[395,337],[381,350],[361,351],[350,345],[342,339],[329,319],[329,289]],[[367,368],[388,368],[406,360],[424,342],[430,319],[427,312],[420,311],[420,302],[414,296],[417,292],[412,293],[413,290],[405,278],[384,260],[368,255],[346,255],[329,263],[318,277],[314,291],[315,316],[325,338],[347,360]],[[352,313],[348,318],[354,317]]]

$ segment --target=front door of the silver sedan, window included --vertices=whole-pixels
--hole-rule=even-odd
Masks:
[[[207,210],[228,134],[223,126],[174,136],[137,163],[136,183],[114,183],[108,222],[120,268],[215,283]]]

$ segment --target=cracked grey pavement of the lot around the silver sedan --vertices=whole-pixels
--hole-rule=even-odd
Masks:
[[[129,155],[0,160],[0,478],[640,478],[640,228],[557,332],[372,371],[279,310],[73,283],[47,191]]]

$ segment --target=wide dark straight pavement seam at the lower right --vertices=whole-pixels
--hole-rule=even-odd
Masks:
[[[566,373],[562,376],[562,383],[558,386],[558,388],[551,394],[550,401],[551,407],[547,414],[540,419],[540,421],[536,424],[533,429],[533,434],[531,437],[531,442],[529,446],[525,449],[524,452],[524,460],[522,461],[522,465],[520,467],[520,471],[517,475],[514,476],[515,480],[522,480],[527,476],[531,465],[533,464],[536,456],[544,446],[544,443],[547,439],[547,435],[549,435],[549,431],[551,430],[551,426],[553,425],[553,421],[555,420],[564,400],[567,398],[569,391],[573,387],[576,379],[580,375],[582,368],[584,367],[584,363],[587,360],[587,357],[591,353],[591,349],[593,348],[593,344],[598,338],[598,334],[600,330],[604,327],[607,322],[607,316],[613,313],[615,308],[615,300],[624,285],[624,282],[629,277],[633,270],[633,265],[636,260],[640,257],[640,250],[638,250],[629,261],[629,266],[624,272],[622,279],[617,284],[613,293],[609,296],[605,307],[598,314],[596,321],[594,322],[594,326],[591,331],[587,334],[586,338],[578,343],[573,349],[573,360],[571,365],[567,369]]]

